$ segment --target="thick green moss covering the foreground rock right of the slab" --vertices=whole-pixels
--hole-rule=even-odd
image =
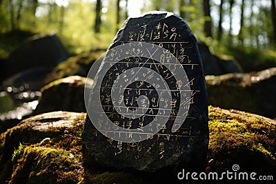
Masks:
[[[209,130],[207,170],[225,171],[234,164],[240,164],[245,170],[275,170],[275,121],[209,106]]]

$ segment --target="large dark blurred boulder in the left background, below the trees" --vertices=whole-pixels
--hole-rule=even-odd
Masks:
[[[37,35],[14,50],[5,61],[6,76],[36,67],[54,67],[69,57],[66,48],[55,35]],[[35,76],[33,76],[35,79]]]

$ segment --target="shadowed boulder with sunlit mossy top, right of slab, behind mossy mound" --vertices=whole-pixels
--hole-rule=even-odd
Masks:
[[[276,117],[276,68],[205,78],[208,104]]]

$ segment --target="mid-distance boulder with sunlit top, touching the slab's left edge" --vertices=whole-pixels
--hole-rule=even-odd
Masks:
[[[81,76],[68,76],[52,81],[41,89],[41,98],[34,114],[66,110],[86,112],[84,88],[86,80],[92,85],[93,80]]]

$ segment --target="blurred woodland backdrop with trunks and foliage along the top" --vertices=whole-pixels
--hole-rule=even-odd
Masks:
[[[70,5],[62,6],[64,1]],[[128,0],[0,0],[0,32],[62,32],[73,40],[71,45],[87,49],[90,43],[103,45],[104,40],[106,46],[128,17],[128,9],[132,11],[130,4]],[[239,43],[262,50],[276,47],[275,0],[144,0],[141,12],[150,10],[179,12],[197,36],[215,37],[226,48]],[[228,23],[228,28],[222,26]]]

